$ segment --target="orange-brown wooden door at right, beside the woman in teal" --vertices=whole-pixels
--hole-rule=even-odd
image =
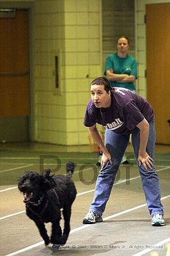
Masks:
[[[156,143],[170,144],[170,3],[146,5],[147,100],[155,112]]]

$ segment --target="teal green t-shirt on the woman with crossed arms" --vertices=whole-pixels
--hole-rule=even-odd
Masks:
[[[134,57],[127,56],[125,58],[118,57],[117,53],[107,56],[105,61],[105,72],[113,69],[115,74],[127,74],[137,77],[137,61]],[[117,82],[109,81],[112,87],[124,87],[129,90],[135,90],[133,82]]]

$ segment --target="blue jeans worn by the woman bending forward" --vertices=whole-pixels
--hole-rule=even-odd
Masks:
[[[150,131],[148,136],[146,152],[154,159],[154,147],[155,147],[155,123],[154,118],[149,122]],[[121,159],[125,153],[126,147],[129,142],[129,134],[116,134],[111,130],[106,129],[105,131],[105,146],[112,156],[113,164],[109,161],[105,164],[105,167],[100,170],[99,176],[96,181],[94,199],[90,205],[90,210],[99,214],[103,214],[105,206],[111,194],[114,179],[116,177],[118,168],[121,163]],[[140,132],[139,129],[131,133],[131,142],[133,144],[135,158],[138,164],[138,151],[140,143]],[[139,166],[139,173],[142,179],[143,191],[145,193],[147,208],[151,214],[161,213],[163,214],[163,206],[160,202],[160,187],[159,178],[155,170],[155,165],[152,170],[148,168],[146,171],[143,164]]]

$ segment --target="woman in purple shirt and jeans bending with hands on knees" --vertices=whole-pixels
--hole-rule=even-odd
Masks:
[[[105,143],[96,123],[103,125]],[[125,88],[111,88],[109,80],[98,77],[91,82],[91,100],[87,104],[84,125],[103,152],[94,200],[83,224],[101,222],[129,136],[134,148],[143,191],[153,226],[164,226],[160,202],[159,178],[154,166],[155,123],[151,105],[141,96]]]

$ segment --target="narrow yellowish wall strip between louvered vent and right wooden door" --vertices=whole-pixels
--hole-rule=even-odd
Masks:
[[[146,95],[146,25],[144,22],[147,4],[169,3],[169,0],[136,0],[136,23],[137,23],[137,61],[138,61],[138,93],[142,97]]]

